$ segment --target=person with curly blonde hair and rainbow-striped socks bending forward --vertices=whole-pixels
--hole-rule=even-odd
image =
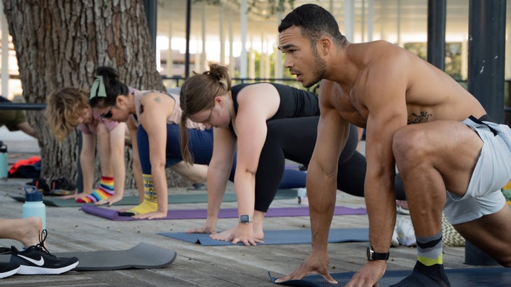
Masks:
[[[82,135],[80,168],[84,192],[63,198],[76,199],[78,203],[112,205],[123,199],[124,147],[130,145],[130,138],[125,123],[102,119],[90,108],[88,100],[87,92],[73,87],[57,89],[48,96],[46,117],[55,138],[62,142],[77,127]],[[99,152],[101,182],[93,190],[96,147]]]

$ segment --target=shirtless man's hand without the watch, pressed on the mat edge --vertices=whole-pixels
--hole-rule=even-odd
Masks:
[[[311,273],[320,274],[329,284],[337,284],[337,281],[328,273],[328,264],[330,259],[328,253],[312,252],[304,263],[298,267],[293,273],[275,280],[275,283],[281,283],[293,279],[302,279]]]

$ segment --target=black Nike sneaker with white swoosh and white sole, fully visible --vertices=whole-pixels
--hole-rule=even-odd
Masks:
[[[78,258],[57,258],[52,255],[44,246],[46,235],[44,229],[39,235],[39,243],[29,246],[25,251],[18,251],[15,246],[11,246],[11,263],[21,265],[18,274],[60,274],[73,270],[78,265]]]

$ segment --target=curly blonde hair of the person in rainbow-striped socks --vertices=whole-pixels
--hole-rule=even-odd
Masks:
[[[57,89],[46,98],[46,104],[45,115],[50,129],[62,142],[78,126],[78,112],[90,108],[89,93],[73,87]]]

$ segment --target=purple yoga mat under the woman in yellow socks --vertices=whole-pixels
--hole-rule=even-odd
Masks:
[[[113,221],[132,221],[132,220],[144,220],[134,219],[127,216],[119,216],[118,210],[110,209],[109,207],[99,207],[96,205],[82,205],[81,209],[83,212],[104,217]],[[335,215],[353,215],[353,214],[367,214],[365,208],[351,208],[344,206],[335,207]],[[309,207],[274,207],[268,209],[266,217],[278,217],[278,216],[309,216]],[[218,218],[237,218],[237,208],[224,208],[218,212]],[[163,219],[206,219],[207,209],[172,209],[167,213],[167,217]]]

